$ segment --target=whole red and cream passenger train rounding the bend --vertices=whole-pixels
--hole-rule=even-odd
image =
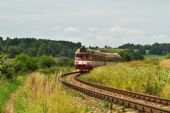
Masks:
[[[122,60],[118,53],[106,53],[99,50],[80,48],[75,51],[75,68],[85,71],[102,65],[110,65]]]

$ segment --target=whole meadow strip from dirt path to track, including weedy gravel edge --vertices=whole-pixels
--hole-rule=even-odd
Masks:
[[[14,113],[87,113],[109,109],[108,102],[87,99],[63,86],[59,76],[69,69],[61,70],[50,75],[31,73],[16,92]]]

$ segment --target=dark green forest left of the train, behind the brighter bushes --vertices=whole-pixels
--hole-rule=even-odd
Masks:
[[[81,43],[69,41],[54,41],[35,38],[9,38],[3,40],[0,37],[0,51],[14,58],[16,55],[25,53],[29,56],[50,55],[53,57],[74,57],[74,51],[81,47]]]

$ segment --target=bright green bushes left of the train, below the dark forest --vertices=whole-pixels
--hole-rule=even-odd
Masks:
[[[3,55],[6,56],[5,54]],[[17,75],[26,74],[35,70],[40,70],[46,74],[54,73],[57,67],[73,66],[73,61],[70,59],[58,59],[57,61],[52,56],[30,57],[26,54],[17,55],[14,59],[3,59],[1,71],[2,77],[8,80],[14,80]]]

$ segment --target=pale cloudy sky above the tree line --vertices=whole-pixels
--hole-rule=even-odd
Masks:
[[[99,47],[170,43],[170,0],[0,0],[0,36]]]

